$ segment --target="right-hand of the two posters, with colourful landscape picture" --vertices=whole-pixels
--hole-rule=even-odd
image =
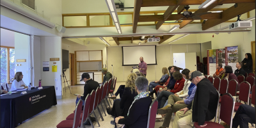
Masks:
[[[233,73],[235,72],[236,63],[238,62],[238,46],[225,47],[225,62],[226,65],[230,65],[233,69]]]

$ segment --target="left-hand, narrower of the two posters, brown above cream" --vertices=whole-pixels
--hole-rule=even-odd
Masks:
[[[207,50],[208,75],[212,76],[216,72],[216,49]]]

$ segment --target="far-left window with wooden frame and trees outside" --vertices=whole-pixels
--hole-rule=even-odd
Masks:
[[[10,83],[8,80],[15,76],[15,49],[1,46],[1,83]]]

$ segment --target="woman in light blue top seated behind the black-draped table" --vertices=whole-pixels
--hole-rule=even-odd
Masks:
[[[12,81],[12,88],[10,91],[17,90],[18,87],[24,86],[26,87],[26,84],[22,81],[23,75],[22,72],[16,72],[14,76],[14,80]]]

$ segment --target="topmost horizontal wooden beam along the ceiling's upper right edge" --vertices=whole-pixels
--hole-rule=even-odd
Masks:
[[[206,0],[184,0],[179,5],[196,5],[202,4]],[[231,3],[255,3],[255,0],[220,0],[215,1],[214,4],[231,4]],[[141,7],[147,6],[175,6],[177,5],[176,0],[143,0]]]

